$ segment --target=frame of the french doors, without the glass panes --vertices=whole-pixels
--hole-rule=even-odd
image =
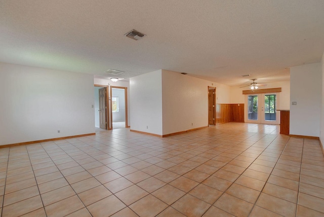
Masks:
[[[256,124],[280,124],[280,113],[276,112],[276,120],[275,121],[266,121],[264,114],[264,97],[265,95],[276,95],[276,110],[279,107],[279,92],[267,92],[267,93],[251,93],[245,95],[245,113],[244,113],[244,122],[246,123],[256,123]],[[249,120],[248,119],[248,97],[251,95],[258,96],[258,120]]]

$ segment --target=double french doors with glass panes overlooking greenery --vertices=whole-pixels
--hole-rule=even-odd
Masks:
[[[278,93],[259,93],[246,95],[245,122],[260,124],[279,124]]]

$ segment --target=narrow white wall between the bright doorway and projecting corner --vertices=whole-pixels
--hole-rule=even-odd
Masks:
[[[131,130],[162,135],[162,70],[130,79]]]

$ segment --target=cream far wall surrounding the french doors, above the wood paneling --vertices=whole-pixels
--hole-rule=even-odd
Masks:
[[[290,108],[290,81],[282,81],[282,82],[270,82],[267,83],[264,88],[278,88],[281,87],[281,92],[279,93],[279,107],[277,109],[280,110],[289,110]],[[245,103],[244,94],[242,94],[242,90],[248,90],[248,88],[239,88],[239,87],[231,87],[231,103]]]

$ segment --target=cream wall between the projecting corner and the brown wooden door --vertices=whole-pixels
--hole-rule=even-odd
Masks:
[[[162,70],[163,135],[208,126],[208,86],[212,82]]]

